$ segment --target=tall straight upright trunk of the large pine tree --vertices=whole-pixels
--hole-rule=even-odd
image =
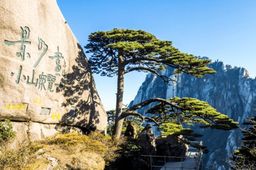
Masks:
[[[122,52],[119,51],[119,66],[117,77],[117,93],[116,93],[116,110],[115,110],[115,124],[113,129],[113,138],[119,139],[122,132],[124,118],[120,118],[123,108],[123,94],[124,94],[124,67]]]

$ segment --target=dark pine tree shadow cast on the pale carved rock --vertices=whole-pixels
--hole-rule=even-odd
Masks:
[[[95,130],[100,124],[100,112],[97,107],[102,107],[99,102],[92,72],[88,60],[80,44],[80,50],[75,58],[75,64],[62,80],[62,88],[57,88],[65,100],[62,107],[70,108],[60,120],[61,125],[77,126],[84,132]],[[72,62],[70,62],[72,63]],[[104,110],[104,108],[102,108]]]

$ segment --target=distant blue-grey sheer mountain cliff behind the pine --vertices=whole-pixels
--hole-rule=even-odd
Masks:
[[[148,74],[145,82],[140,87],[130,106],[143,102],[150,98],[169,99],[174,96],[196,98],[208,102],[219,112],[230,116],[240,123],[245,122],[246,117],[256,115],[256,80],[248,76],[245,68],[231,67],[223,62],[215,61],[209,67],[217,71],[216,74],[206,75],[203,78],[193,78],[181,75],[178,78],[180,84],[165,84],[161,79]],[[162,74],[172,75],[172,68],[166,68]],[[153,106],[151,104],[149,107]],[[149,107],[139,110],[144,113]],[[203,140],[209,153],[204,154],[205,166],[203,169],[229,169],[227,163],[229,155],[234,149],[241,146],[242,134],[239,129],[231,131],[211,130],[195,128],[196,132],[203,134],[198,140]],[[153,129],[155,135],[159,135]]]

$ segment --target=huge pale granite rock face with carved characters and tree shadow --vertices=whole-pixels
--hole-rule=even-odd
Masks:
[[[105,131],[88,61],[56,1],[0,2],[0,70],[0,120],[28,123],[34,139],[68,127]]]

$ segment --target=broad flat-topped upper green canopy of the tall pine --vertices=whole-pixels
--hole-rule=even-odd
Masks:
[[[184,72],[195,77],[215,73],[206,67],[210,60],[196,59],[191,54],[182,53],[172,46],[171,41],[159,40],[142,30],[94,32],[89,35],[88,41],[86,53],[92,53],[89,64],[93,73],[102,76],[117,75],[119,62],[122,62],[124,74],[133,70],[149,71],[165,82],[173,81],[159,74],[159,70],[165,66],[175,68],[177,73]]]

